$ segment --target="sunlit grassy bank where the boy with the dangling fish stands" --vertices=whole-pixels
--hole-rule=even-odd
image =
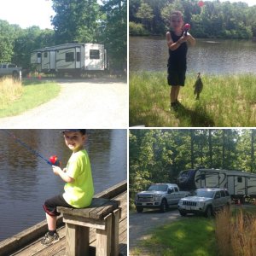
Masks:
[[[252,127],[256,125],[256,75],[201,75],[204,88],[195,100],[196,75],[188,74],[177,111],[170,110],[166,73],[130,74],[130,125],[151,127]]]

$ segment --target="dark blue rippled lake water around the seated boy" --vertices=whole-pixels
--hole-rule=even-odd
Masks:
[[[72,152],[59,130],[9,130],[46,159],[56,154],[66,166]],[[64,182],[44,160],[0,130],[0,241],[45,219],[45,199],[63,192]],[[88,130],[95,192],[127,178],[127,131]]]

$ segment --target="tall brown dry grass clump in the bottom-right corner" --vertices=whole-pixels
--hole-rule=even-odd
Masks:
[[[220,255],[255,256],[255,213],[239,211],[232,216],[228,210],[219,212],[216,218],[216,236]]]

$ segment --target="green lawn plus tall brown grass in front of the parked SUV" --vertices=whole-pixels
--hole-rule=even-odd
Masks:
[[[153,230],[132,255],[254,256],[255,213],[256,206],[250,205],[219,212],[216,218],[182,218]]]

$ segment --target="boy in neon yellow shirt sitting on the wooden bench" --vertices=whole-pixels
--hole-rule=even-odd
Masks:
[[[62,178],[66,185],[64,194],[57,195],[44,202],[44,212],[48,224],[48,232],[41,241],[48,245],[53,241],[58,241],[56,232],[56,220],[60,212],[56,207],[89,207],[94,195],[93,180],[90,170],[89,156],[84,149],[86,139],[85,129],[70,129],[62,131],[67,148],[73,151],[67,162],[67,167],[61,170],[58,166],[53,166],[53,172]]]

